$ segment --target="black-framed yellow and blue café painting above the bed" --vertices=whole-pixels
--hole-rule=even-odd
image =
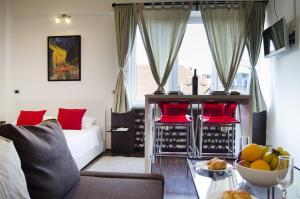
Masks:
[[[48,37],[48,81],[81,80],[81,36]]]

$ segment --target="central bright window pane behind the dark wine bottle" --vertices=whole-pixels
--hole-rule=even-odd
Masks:
[[[192,93],[194,69],[198,75],[198,94],[208,91],[213,67],[204,25],[188,24],[178,53],[178,84],[183,93]]]

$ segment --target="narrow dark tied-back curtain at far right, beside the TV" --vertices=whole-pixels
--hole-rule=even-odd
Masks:
[[[264,30],[265,22],[265,9],[266,6],[264,2],[254,3],[248,25],[249,34],[246,40],[246,46],[252,66],[249,94],[252,97],[253,112],[261,112],[266,110],[266,104],[260,90],[259,80],[255,68],[261,49],[262,32]]]

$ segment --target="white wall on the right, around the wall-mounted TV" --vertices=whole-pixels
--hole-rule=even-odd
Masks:
[[[286,53],[268,60],[270,81],[265,84],[270,96],[268,102],[267,142],[274,146],[282,146],[295,156],[295,163],[300,167],[300,50],[299,50],[299,15],[300,2],[296,5],[296,45]],[[275,22],[273,4],[271,0],[267,8],[267,22]],[[285,16],[287,22],[293,19],[294,1],[276,0],[276,10],[279,17]]]

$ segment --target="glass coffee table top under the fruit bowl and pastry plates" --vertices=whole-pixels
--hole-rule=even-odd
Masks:
[[[281,191],[279,187],[266,188],[252,186],[240,176],[234,168],[222,172],[214,172],[206,169],[199,169],[196,163],[203,164],[205,160],[188,158],[190,176],[193,179],[198,198],[200,199],[220,199],[226,190],[239,189],[248,191],[255,199],[280,199]],[[300,190],[296,183],[299,182],[299,171],[295,172],[295,180],[288,191],[288,198],[300,198]]]

